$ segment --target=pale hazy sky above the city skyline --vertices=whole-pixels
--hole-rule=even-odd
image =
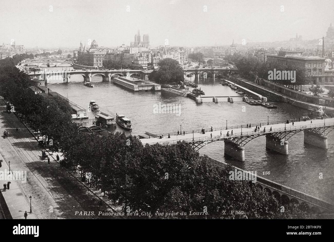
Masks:
[[[0,10],[0,42],[26,47],[129,45],[138,28],[153,46],[289,40],[296,32],[306,40],[334,24],[333,0],[0,0]]]

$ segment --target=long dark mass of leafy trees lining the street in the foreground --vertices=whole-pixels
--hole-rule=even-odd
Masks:
[[[32,127],[52,138],[52,149],[62,152],[70,165],[79,165],[82,173],[92,172],[93,186],[131,211],[151,213],[154,218],[308,216],[294,204],[282,212],[274,196],[244,181],[230,180],[233,167],[214,167],[209,157],[200,156],[185,142],[144,146],[124,133],[109,137],[79,133],[71,122],[68,101],[29,92],[29,81],[11,59],[0,60],[1,95]],[[244,213],[231,214],[236,210]],[[207,214],[190,215],[203,211]]]

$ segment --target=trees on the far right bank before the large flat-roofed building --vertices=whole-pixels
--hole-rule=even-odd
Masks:
[[[258,77],[268,80],[268,72],[274,71],[296,71],[296,82],[291,83],[290,80],[272,80],[273,82],[286,85],[289,87],[296,87],[305,85],[310,82],[310,77],[307,76],[306,68],[295,65],[284,65],[280,63],[261,63],[254,57],[245,57],[241,54],[234,53],[226,56],[226,60],[235,64],[243,76],[258,75]],[[275,75],[275,74],[274,74]]]

